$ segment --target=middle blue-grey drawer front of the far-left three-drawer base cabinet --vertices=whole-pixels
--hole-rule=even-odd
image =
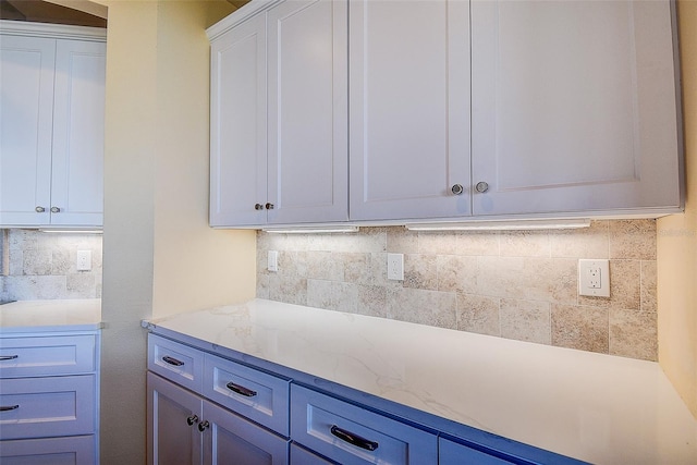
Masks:
[[[95,375],[0,380],[0,440],[95,432]]]

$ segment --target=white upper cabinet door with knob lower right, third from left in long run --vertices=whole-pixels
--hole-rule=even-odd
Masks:
[[[469,215],[468,2],[355,1],[348,27],[351,219]]]

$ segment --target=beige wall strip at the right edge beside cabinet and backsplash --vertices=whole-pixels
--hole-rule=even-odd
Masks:
[[[658,222],[659,362],[697,417],[697,2],[678,2],[678,24],[687,201]]]

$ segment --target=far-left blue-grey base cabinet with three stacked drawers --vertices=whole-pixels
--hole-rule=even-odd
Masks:
[[[98,463],[99,332],[0,338],[0,462]]]

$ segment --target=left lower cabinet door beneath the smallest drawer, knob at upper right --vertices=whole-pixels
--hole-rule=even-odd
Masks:
[[[201,461],[201,401],[195,394],[164,379],[147,374],[148,464],[197,465]]]

